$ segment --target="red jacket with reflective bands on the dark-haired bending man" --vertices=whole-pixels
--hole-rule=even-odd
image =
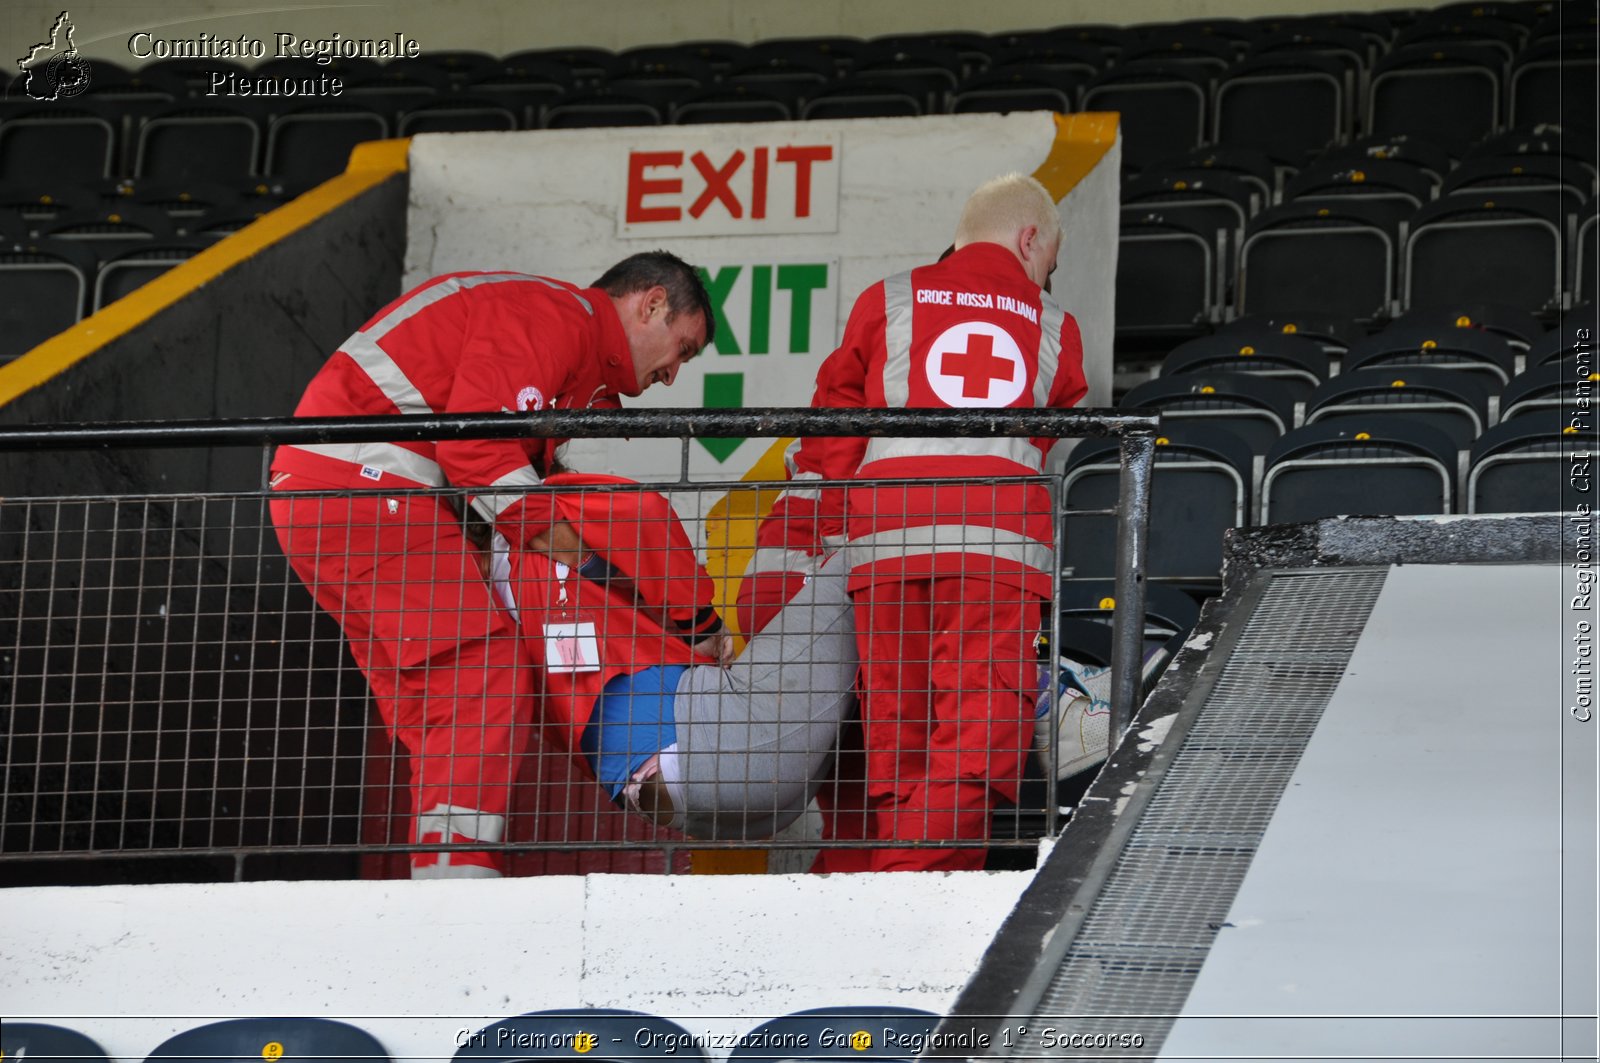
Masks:
[[[597,288],[512,272],[435,277],[346,339],[296,416],[616,407],[638,379],[622,322]],[[280,447],[274,472],[331,487],[496,487],[472,504],[520,546],[552,522],[542,482],[563,440],[486,439]]]

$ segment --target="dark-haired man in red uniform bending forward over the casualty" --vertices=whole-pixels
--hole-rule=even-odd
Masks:
[[[634,255],[579,288],[517,272],[461,272],[405,293],[344,341],[296,416],[616,407],[670,384],[710,341],[696,271]],[[272,461],[272,522],[296,575],[339,621],[384,722],[411,757],[418,844],[499,842],[534,716],[533,666],[496,608],[440,493],[518,549],[578,565],[584,548],[549,493],[563,440],[301,443]],[[339,491],[291,496],[283,491]],[[712,613],[714,616],[714,613]],[[720,621],[718,621],[720,623]],[[493,877],[488,852],[426,852],[413,877]]]

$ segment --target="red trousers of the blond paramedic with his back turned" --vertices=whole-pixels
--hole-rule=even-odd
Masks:
[[[1014,800],[1034,728],[1034,637],[1043,599],[987,578],[856,591],[864,815],[840,802],[830,836],[984,842],[995,797]],[[974,871],[984,850],[824,848],[813,871]]]

